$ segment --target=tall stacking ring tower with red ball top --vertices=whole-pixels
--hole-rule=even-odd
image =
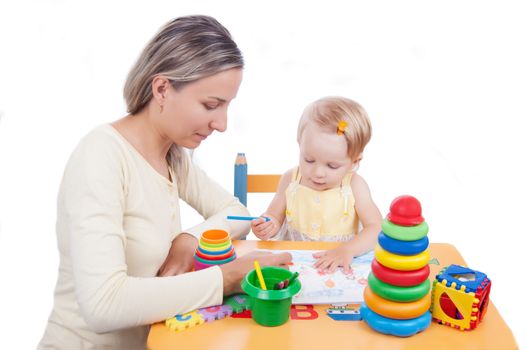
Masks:
[[[374,330],[408,337],[431,323],[429,227],[412,196],[395,198],[389,209],[360,310]]]

